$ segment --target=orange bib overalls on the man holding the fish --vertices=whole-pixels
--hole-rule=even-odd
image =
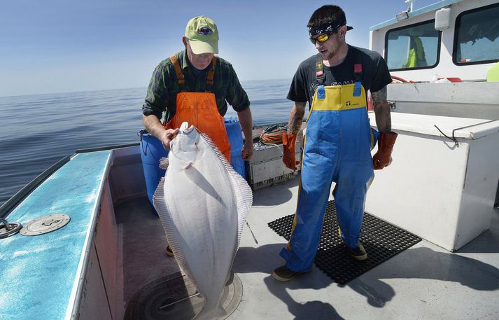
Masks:
[[[206,78],[206,92],[186,92],[185,78],[175,55],[170,57],[174,64],[178,85],[181,92],[176,96],[176,112],[165,129],[176,129],[187,121],[189,125],[197,127],[199,132],[208,134],[211,140],[218,146],[220,152],[230,163],[230,144],[225,130],[223,116],[218,112],[215,94],[211,92],[213,74],[215,74],[216,57],[213,57],[213,67]]]

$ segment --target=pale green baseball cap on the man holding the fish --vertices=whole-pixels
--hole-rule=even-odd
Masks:
[[[192,18],[185,27],[185,38],[196,55],[218,53],[218,29],[215,22],[202,15]]]

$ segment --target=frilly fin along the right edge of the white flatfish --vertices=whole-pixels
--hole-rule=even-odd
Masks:
[[[230,163],[225,158],[225,155],[220,152],[213,140],[207,134],[201,134],[202,139],[213,149],[220,162],[227,170],[230,177],[230,182],[235,190],[236,204],[237,204],[237,246],[236,251],[239,249],[239,242],[241,242],[241,233],[243,232],[244,221],[246,216],[253,205],[253,191],[248,185],[248,182],[234,170]]]

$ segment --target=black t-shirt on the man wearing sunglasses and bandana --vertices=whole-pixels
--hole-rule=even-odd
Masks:
[[[346,54],[344,62],[336,67],[324,66],[324,85],[349,85],[355,83],[355,74],[353,74],[354,53],[360,59],[362,64],[362,85],[364,90],[377,92],[391,83],[390,72],[385,60],[379,53],[364,48],[358,48],[349,45],[349,52]],[[309,102],[312,104],[314,92],[317,89],[316,79],[316,58],[317,55],[304,60],[298,67],[291,87],[288,93],[288,99],[294,102]]]

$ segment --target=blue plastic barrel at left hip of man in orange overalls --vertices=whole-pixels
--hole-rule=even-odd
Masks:
[[[150,204],[153,204],[153,195],[157,188],[157,183],[164,176],[166,170],[160,169],[160,158],[168,156],[168,151],[164,150],[160,140],[152,134],[141,130],[141,158],[143,175],[146,178],[147,197]]]

